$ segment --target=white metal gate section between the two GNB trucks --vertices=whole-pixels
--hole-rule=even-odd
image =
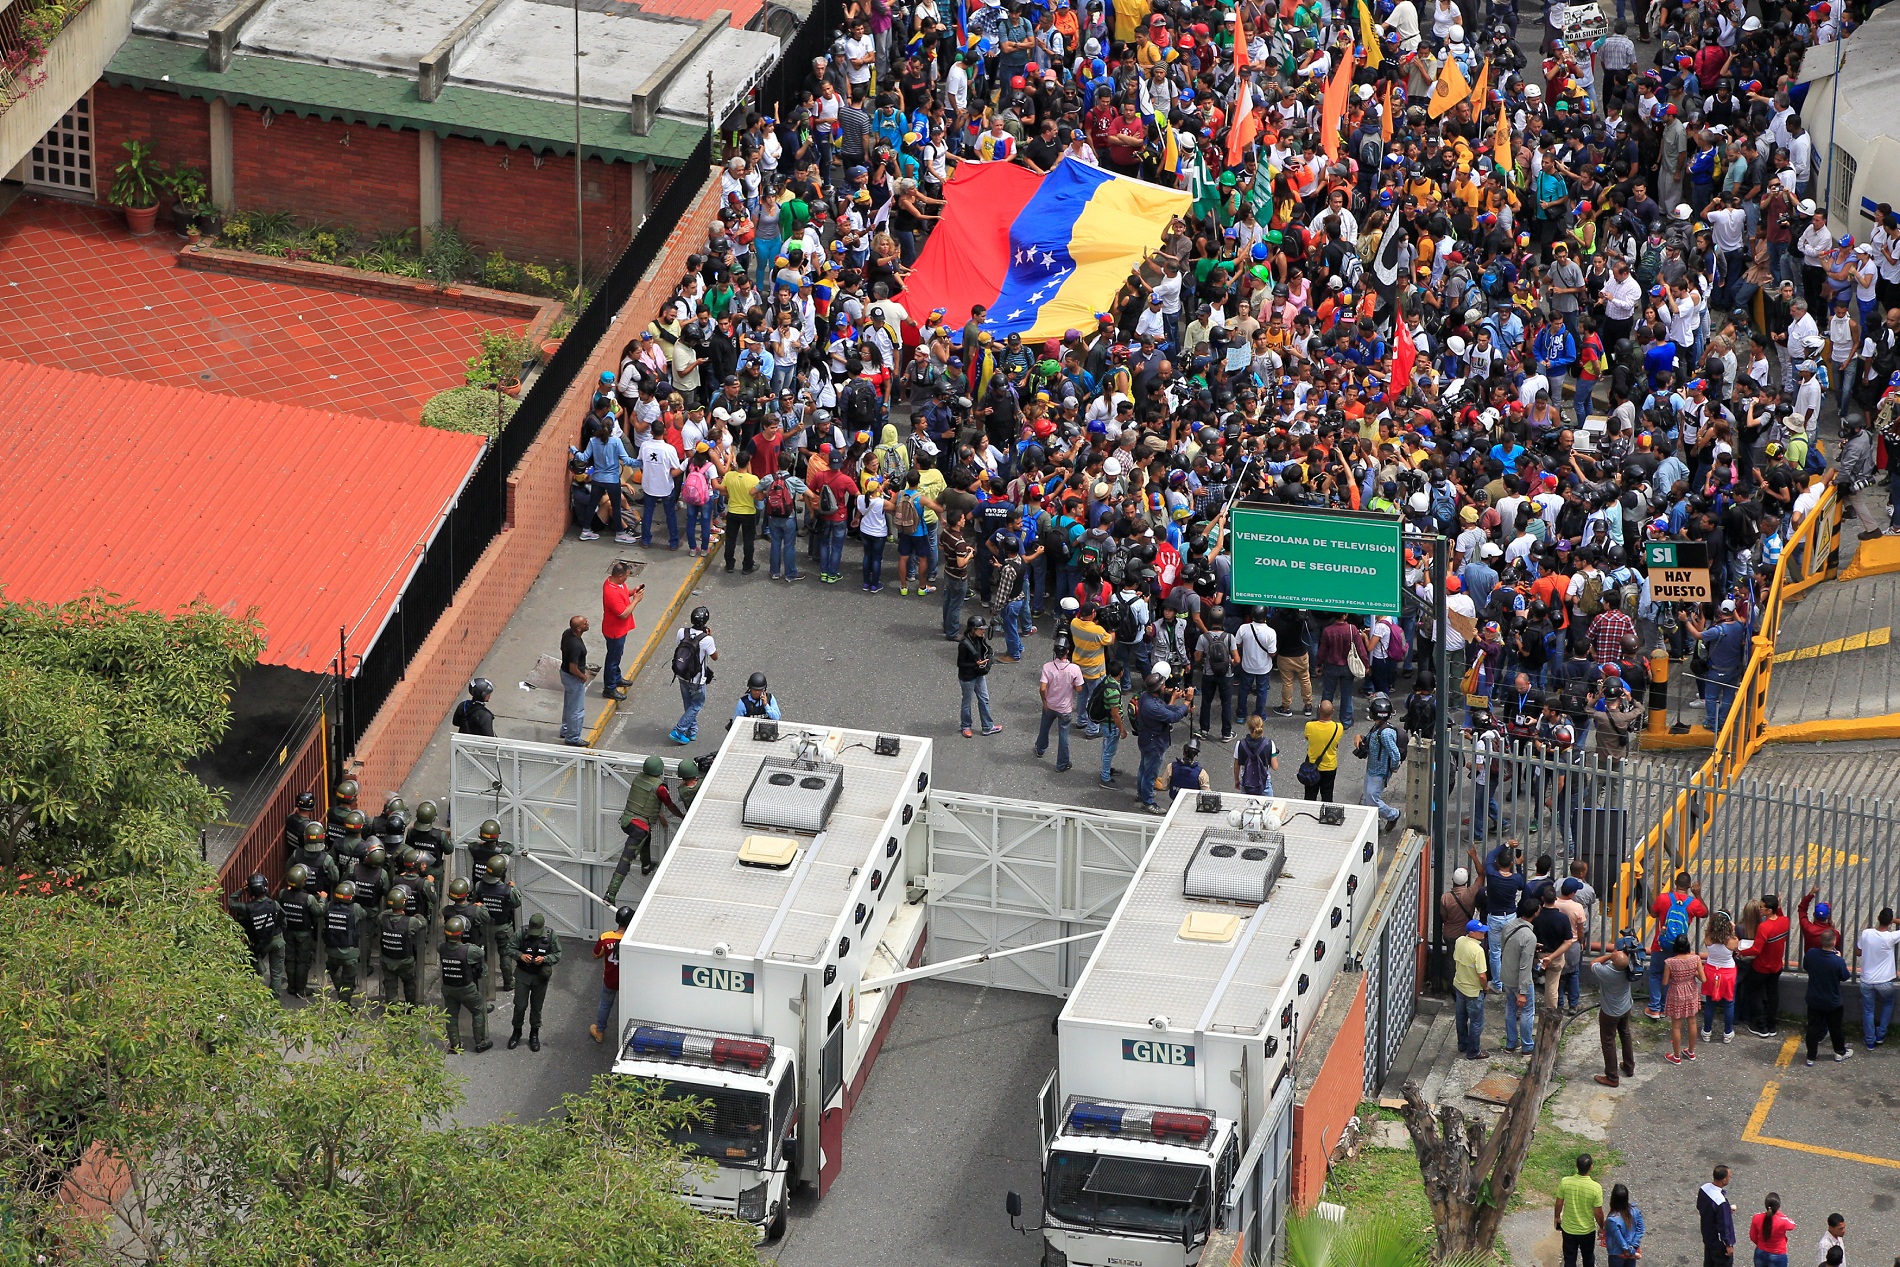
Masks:
[[[1155,838],[1150,815],[931,788],[912,832],[929,857],[929,961],[1108,927]],[[1068,997],[1094,942],[977,963],[944,980]]]

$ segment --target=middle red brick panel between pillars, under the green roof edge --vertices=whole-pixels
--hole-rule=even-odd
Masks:
[[[232,173],[245,211],[289,211],[359,232],[422,220],[420,142],[412,131],[232,110]]]

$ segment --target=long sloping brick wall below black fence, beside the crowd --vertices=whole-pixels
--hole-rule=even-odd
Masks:
[[[408,676],[395,686],[357,743],[357,779],[365,786],[403,786],[475,667],[555,553],[568,526],[566,444],[572,424],[587,412],[593,382],[600,370],[616,369],[619,348],[652,321],[659,304],[673,293],[673,283],[686,268],[686,256],[705,241],[714,211],[718,211],[718,180],[711,180],[680,218],[667,249],[646,270],[633,298],[595,348],[595,363],[576,376],[557,416],[542,429],[534,448],[509,477],[507,501],[513,526],[488,543],[456,591],[454,604],[418,648]]]

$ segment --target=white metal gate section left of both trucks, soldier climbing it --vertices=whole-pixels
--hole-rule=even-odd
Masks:
[[[606,893],[627,842],[619,811],[644,762],[640,752],[450,735],[448,823],[456,843],[475,840],[483,819],[500,821],[502,840],[515,845],[517,857],[532,855],[572,881],[562,883],[534,862],[515,862],[511,878],[526,908],[543,912],[560,933],[591,938],[612,925],[612,912],[574,885]],[[669,758],[667,777],[676,773],[678,762]],[[665,832],[656,834],[656,857],[663,838]],[[466,860],[458,868],[467,874]]]

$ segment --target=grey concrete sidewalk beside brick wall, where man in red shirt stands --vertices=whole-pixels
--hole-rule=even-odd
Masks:
[[[718,541],[714,541],[714,547]],[[635,574],[629,585],[646,585],[646,596],[635,612],[635,633],[627,636],[621,674],[631,682],[661,646],[659,636],[690,610],[688,598],[699,585],[711,557],[694,558],[686,549],[669,551],[663,545],[616,545],[612,539],[581,541],[570,530],[555,547],[553,557],[534,581],[526,600],[515,610],[507,627],[488,648],[479,676],[494,682],[494,733],[504,739],[560,741],[560,691],[532,690],[524,678],[542,655],[560,655],[560,634],[574,615],[585,615],[593,625],[587,634],[587,663],[600,665],[606,642],[600,636],[600,585],[616,558],[629,558]],[[614,718],[616,705],[602,697],[598,686],[587,690],[587,737],[598,743]],[[454,733],[448,716],[437,728],[422,760],[403,781],[403,796],[414,805],[431,798],[448,807],[448,737]],[[367,788],[367,798],[382,804],[390,788]],[[469,836],[473,823],[454,824],[456,836]]]

